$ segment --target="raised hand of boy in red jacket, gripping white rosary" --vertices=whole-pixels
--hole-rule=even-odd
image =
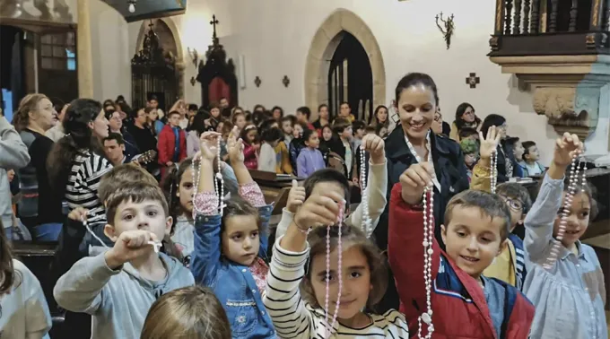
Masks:
[[[424,189],[433,187],[432,178],[434,177],[434,169],[428,162],[413,164],[405,170],[400,176],[400,184],[403,187],[402,196],[405,203],[419,204],[422,201]]]

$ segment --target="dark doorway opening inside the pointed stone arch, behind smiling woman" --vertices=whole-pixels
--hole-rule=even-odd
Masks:
[[[368,122],[373,110],[373,74],[369,56],[352,34],[341,31],[341,42],[328,70],[328,109],[334,116],[348,102],[357,119]]]

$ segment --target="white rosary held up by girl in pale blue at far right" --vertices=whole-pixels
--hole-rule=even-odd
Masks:
[[[555,243],[553,244],[553,247],[551,248],[551,253],[546,258],[546,262],[543,265],[543,267],[547,271],[552,269],[553,265],[555,265],[555,262],[557,261],[557,257],[559,256],[559,250],[562,247],[562,239],[563,239],[563,236],[565,235],[565,229],[568,225],[568,216],[570,215],[572,199],[574,198],[574,194],[576,193],[576,186],[578,185],[578,182],[579,182],[579,170],[580,170],[581,161],[579,160],[579,163],[577,166],[577,164],[576,164],[577,157],[578,157],[578,152],[574,152],[574,155],[573,155],[572,161],[571,161],[570,178],[568,180],[568,190],[565,193],[565,203],[563,204],[563,208],[562,208],[562,219],[559,222],[559,230],[557,230],[557,236],[555,237],[555,239],[557,241],[555,241]],[[584,162],[584,168],[582,170],[582,187],[583,187],[582,190],[583,190],[583,192],[584,192],[584,187],[587,185],[587,177],[585,174],[586,170],[587,170],[587,162]]]

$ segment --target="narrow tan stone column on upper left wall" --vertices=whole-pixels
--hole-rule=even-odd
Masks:
[[[92,30],[89,1],[77,0],[78,33],[76,46],[78,53],[76,57],[78,58],[78,96],[80,98],[93,98]]]

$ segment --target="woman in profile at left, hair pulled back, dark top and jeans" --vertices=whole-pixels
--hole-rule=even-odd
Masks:
[[[53,141],[45,132],[56,124],[57,111],[44,94],[26,95],[13,117],[13,125],[30,153],[30,163],[19,170],[19,214],[34,239],[42,241],[56,241],[64,221],[61,201],[53,196],[47,172]]]

